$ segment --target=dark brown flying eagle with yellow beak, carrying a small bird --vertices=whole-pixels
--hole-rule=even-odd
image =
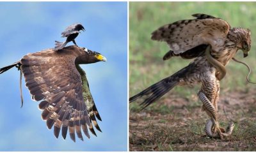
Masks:
[[[87,48],[69,46],[58,51],[47,49],[24,55],[20,61],[1,68],[0,74],[18,67],[32,99],[40,101],[38,107],[43,110],[42,119],[46,120],[47,128],[54,126],[56,138],[60,130],[64,139],[69,131],[70,138],[76,142],[75,132],[83,140],[81,129],[88,138],[88,128],[96,136],[93,125],[101,132],[96,120],[101,118],[86,73],[79,66],[99,61],[106,61],[106,58]]]

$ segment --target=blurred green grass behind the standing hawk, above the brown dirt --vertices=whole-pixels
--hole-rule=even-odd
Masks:
[[[247,62],[252,68],[250,80],[256,82],[255,39],[256,39],[255,2],[131,2],[129,3],[129,97],[149,85],[168,77],[188,65],[191,60],[173,57],[163,61],[163,55],[170,50],[165,42],[150,40],[151,33],[164,24],[189,19],[194,13],[205,13],[220,17],[232,27],[251,29],[252,48],[248,57],[243,58],[241,51],[236,58]],[[255,85],[246,82],[248,70],[234,61],[226,66],[227,75],[221,80],[221,92],[249,91]],[[175,87],[167,94],[191,96],[198,92],[195,87]],[[132,103],[130,108],[136,108]]]

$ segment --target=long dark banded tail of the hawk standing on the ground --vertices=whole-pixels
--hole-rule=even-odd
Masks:
[[[146,99],[140,104],[142,106],[141,110],[143,110],[148,105],[161,98],[164,94],[166,94],[166,92],[172,90],[173,87],[178,85],[180,79],[186,77],[188,73],[191,73],[191,71],[193,71],[194,66],[194,63],[191,63],[185,68],[182,68],[174,73],[172,76],[164,78],[156,84],[151,85],[144,91],[141,91],[140,93],[129,98],[129,102],[131,103],[132,101],[135,101],[142,96],[147,96]]]

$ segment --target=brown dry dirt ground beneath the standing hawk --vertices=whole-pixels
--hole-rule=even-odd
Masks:
[[[192,95],[180,98],[170,94],[155,105],[138,112],[130,111],[129,149],[131,151],[244,151],[256,150],[255,92],[226,92],[218,103],[219,122],[235,128],[223,140],[205,136],[209,119],[201,103]]]

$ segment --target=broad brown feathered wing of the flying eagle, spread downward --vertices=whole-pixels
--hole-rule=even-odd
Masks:
[[[20,60],[32,99],[43,100],[39,108],[44,110],[42,119],[47,120],[47,127],[51,129],[54,126],[56,138],[61,129],[65,139],[68,130],[73,141],[76,141],[75,131],[77,137],[83,140],[81,128],[90,137],[87,126],[95,134],[91,122],[95,117],[88,115],[91,111],[87,110],[90,107],[87,105],[90,103],[84,102],[84,82],[77,71],[75,59],[72,55],[63,56],[52,50],[45,50],[25,55]],[[99,129],[97,124],[95,127]]]

